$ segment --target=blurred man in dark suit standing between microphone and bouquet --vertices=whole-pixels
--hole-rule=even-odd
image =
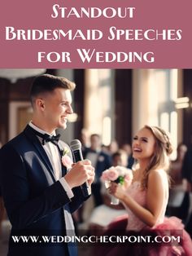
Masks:
[[[95,168],[95,180],[92,185],[95,206],[103,204],[100,177],[103,170],[111,167],[111,157],[106,152],[102,151],[101,146],[100,135],[93,134],[90,136],[90,148],[86,148],[84,152],[84,156],[92,162]]]

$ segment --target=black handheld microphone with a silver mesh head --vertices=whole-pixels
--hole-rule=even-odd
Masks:
[[[83,160],[83,155],[81,152],[81,141],[79,139],[73,139],[70,143],[70,148],[72,149],[72,155],[75,162]],[[81,191],[85,197],[91,194],[91,188],[87,181],[81,185]]]

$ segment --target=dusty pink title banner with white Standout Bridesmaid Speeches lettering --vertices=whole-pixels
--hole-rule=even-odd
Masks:
[[[175,5],[151,0],[25,4],[3,21],[2,58],[9,56],[13,64],[20,55],[26,68],[30,62],[37,68],[154,68],[165,57],[169,66],[177,64],[190,33],[184,21],[178,23]],[[23,22],[16,19],[22,14],[28,15]]]

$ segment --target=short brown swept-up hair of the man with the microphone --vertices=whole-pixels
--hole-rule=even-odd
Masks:
[[[46,92],[51,93],[56,88],[74,90],[75,87],[76,84],[74,82],[69,81],[65,77],[55,77],[50,74],[43,74],[39,77],[36,77],[33,81],[30,91],[31,102],[33,104],[34,99],[38,95]]]

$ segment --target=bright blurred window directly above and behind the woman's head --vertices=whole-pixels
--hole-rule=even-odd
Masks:
[[[151,73],[151,118],[171,134],[173,148],[177,148],[177,69],[153,69]],[[156,96],[155,96],[156,95]],[[158,110],[158,114],[154,113]],[[172,158],[176,157],[176,151]]]

